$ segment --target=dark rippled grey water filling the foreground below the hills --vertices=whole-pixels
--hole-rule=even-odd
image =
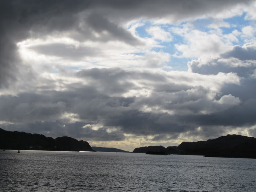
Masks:
[[[256,159],[5,150],[0,191],[255,192]]]

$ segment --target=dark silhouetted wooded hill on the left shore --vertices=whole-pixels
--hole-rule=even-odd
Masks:
[[[45,137],[42,134],[32,134],[18,131],[5,131],[0,128],[1,149],[34,149],[57,151],[94,151],[87,141],[71,137]]]

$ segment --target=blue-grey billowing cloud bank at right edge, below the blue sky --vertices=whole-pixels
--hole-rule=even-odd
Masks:
[[[230,130],[234,127],[254,125],[256,123],[254,116],[256,112],[255,50],[254,44],[245,44],[243,47],[236,45],[233,50],[223,53],[220,58],[211,60],[205,65],[201,65],[198,60],[190,62],[189,67],[195,73],[233,72],[242,77],[240,84],[224,84],[220,95],[216,95],[216,99],[220,99],[223,95],[231,94],[239,98],[241,103],[212,114],[181,116],[180,120],[184,119],[187,123],[205,127],[225,126],[225,129]]]

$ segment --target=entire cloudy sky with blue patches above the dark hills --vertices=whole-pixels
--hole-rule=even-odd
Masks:
[[[256,2],[0,1],[0,127],[132,151],[256,136]]]

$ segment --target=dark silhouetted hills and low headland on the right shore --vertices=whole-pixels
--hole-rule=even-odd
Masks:
[[[182,142],[178,147],[148,146],[133,150],[134,153],[147,153],[148,151],[207,157],[256,158],[256,138],[227,135],[207,141]]]

